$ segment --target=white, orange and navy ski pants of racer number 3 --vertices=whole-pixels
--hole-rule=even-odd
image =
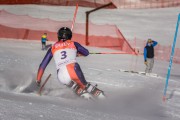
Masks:
[[[78,63],[63,65],[58,69],[57,73],[58,80],[65,85],[74,81],[80,88],[84,89],[86,87],[87,82]]]

